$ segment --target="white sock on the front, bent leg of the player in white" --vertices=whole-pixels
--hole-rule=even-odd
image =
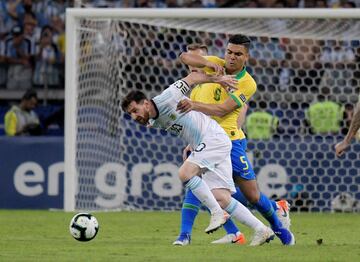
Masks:
[[[222,210],[214,195],[211,193],[210,188],[200,177],[192,177],[186,183],[186,187],[210,210],[211,214]]]

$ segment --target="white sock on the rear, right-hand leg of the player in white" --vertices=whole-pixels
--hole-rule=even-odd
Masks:
[[[231,217],[239,220],[244,225],[247,225],[254,229],[255,231],[263,229],[266,227],[259,219],[257,219],[249,209],[247,209],[243,204],[236,201],[236,199],[231,198],[230,204],[225,208]]]

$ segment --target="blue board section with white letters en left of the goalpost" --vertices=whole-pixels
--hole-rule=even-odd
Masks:
[[[0,137],[0,208],[63,208],[64,138]]]

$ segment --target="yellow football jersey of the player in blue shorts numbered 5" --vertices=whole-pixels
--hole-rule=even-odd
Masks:
[[[216,64],[225,65],[225,60],[216,56],[205,56],[205,58]],[[212,73],[210,68],[204,68],[206,73]],[[225,130],[231,140],[245,138],[244,132],[237,127],[237,118],[239,116],[240,108],[245,104],[256,92],[256,82],[252,76],[244,68],[241,72],[236,75],[239,80],[238,88],[228,92],[219,84],[207,83],[201,84],[192,90],[190,99],[193,101],[205,103],[205,104],[222,104],[229,96],[234,99],[238,104],[238,109],[227,114],[224,117],[212,118],[220,124]]]

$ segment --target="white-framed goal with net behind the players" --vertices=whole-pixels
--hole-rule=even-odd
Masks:
[[[185,76],[178,56],[187,44],[223,57],[228,36],[241,33],[252,41],[247,70],[258,85],[248,116],[261,111],[278,121],[271,138],[248,141],[260,189],[294,210],[356,210],[360,143],[342,159],[333,146],[359,96],[359,14],[69,9],[65,209],[180,209],[185,144],[132,121],[121,99],[130,90],[151,98]]]

